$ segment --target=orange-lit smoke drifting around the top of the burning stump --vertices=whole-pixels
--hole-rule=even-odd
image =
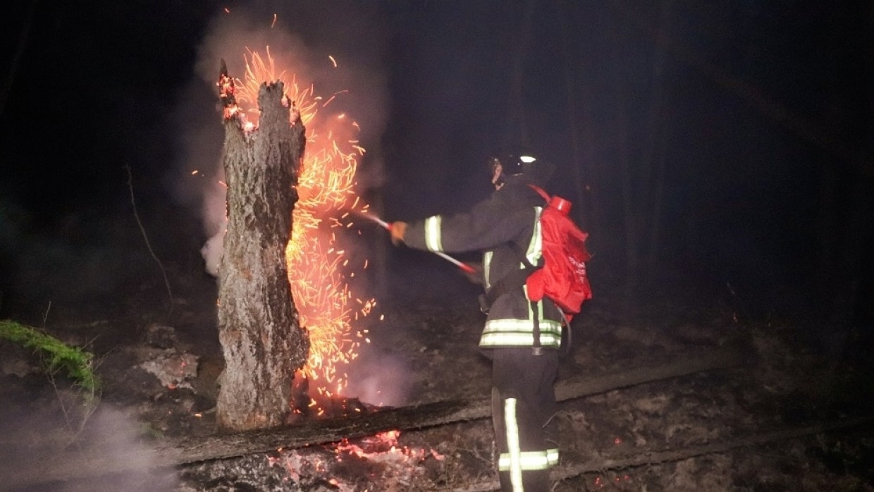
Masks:
[[[362,11],[364,8],[367,10]],[[184,135],[183,163],[173,177],[178,194],[200,209],[206,238],[201,254],[210,274],[217,273],[226,222],[220,153],[223,128],[216,88],[220,60],[225,60],[232,77],[243,79],[250,51],[264,58],[269,50],[277,66],[290,67],[290,72],[282,75],[287,86],[311,86],[322,101],[337,94],[331,104],[357,122],[361,131],[356,139],[367,149],[371,142],[378,144],[386,106],[381,68],[385,30],[378,24],[360,22],[362,18],[378,18],[371,10],[343,2],[252,2],[246,8],[222,10],[212,20],[198,48],[198,80],[191,81],[177,108]],[[316,119],[331,110],[319,108]],[[311,131],[308,128],[308,134]],[[192,174],[194,171],[197,173]],[[357,181],[362,192],[378,187],[382,180],[378,158],[359,161]]]

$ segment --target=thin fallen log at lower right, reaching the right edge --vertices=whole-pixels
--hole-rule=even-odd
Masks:
[[[874,423],[874,415],[867,415],[857,419],[848,419],[837,422],[826,422],[815,426],[804,426],[781,429],[770,433],[759,433],[744,437],[712,442],[698,446],[682,447],[679,449],[662,450],[638,450],[634,454],[598,458],[585,463],[571,463],[552,468],[550,478],[552,482],[561,482],[587,473],[600,474],[608,470],[627,470],[642,466],[651,466],[670,463],[673,461],[688,460],[705,454],[719,454],[732,451],[741,447],[756,447],[770,442],[790,440],[807,437],[820,433],[836,432],[857,426]],[[500,490],[500,484],[494,480],[470,484],[462,489],[434,489],[434,492],[494,492]]]

